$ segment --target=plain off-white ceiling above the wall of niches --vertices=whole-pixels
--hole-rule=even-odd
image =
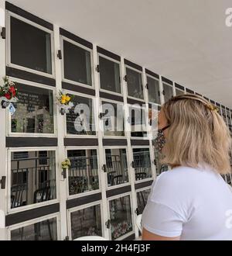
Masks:
[[[231,0],[9,0],[232,109]]]

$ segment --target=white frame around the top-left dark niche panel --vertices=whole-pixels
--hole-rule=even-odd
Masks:
[[[52,74],[49,74],[49,73],[46,73],[46,72],[43,72],[43,71],[36,71],[35,69],[29,68],[29,67],[23,67],[23,66],[20,66],[18,64],[13,64],[11,62],[10,17],[14,17],[16,19],[19,19],[22,22],[26,22],[27,24],[29,24],[31,26],[35,26],[37,29],[41,29],[41,30],[45,31],[46,33],[50,34]],[[15,14],[14,12],[10,12],[8,10],[6,10],[6,26],[7,26],[7,29],[6,29],[6,66],[7,67],[15,67],[15,68],[17,68],[19,70],[22,70],[22,71],[29,71],[30,73],[43,75],[47,78],[55,78],[55,57],[54,57],[55,50],[54,50],[54,33],[53,33],[53,30],[47,29],[44,26],[40,26],[36,22],[32,22],[31,20],[23,18],[22,16],[19,16],[19,15]]]

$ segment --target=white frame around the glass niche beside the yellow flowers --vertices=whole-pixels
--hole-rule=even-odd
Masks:
[[[73,92],[67,89],[63,89],[64,93],[70,94],[70,95],[75,95],[75,96],[80,96],[82,98],[86,98],[86,99],[91,99],[92,100],[92,111],[93,111],[93,115],[92,117],[94,117],[94,125],[95,125],[95,135],[81,135],[81,134],[68,134],[67,133],[67,120],[66,120],[66,114],[63,115],[63,122],[64,122],[64,138],[96,138],[97,137],[97,133],[98,133],[98,127],[97,127],[97,112],[95,111],[95,104],[96,104],[96,97],[93,95],[86,95],[80,92]]]

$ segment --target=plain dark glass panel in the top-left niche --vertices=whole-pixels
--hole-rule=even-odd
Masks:
[[[52,74],[51,36],[11,16],[11,62]]]

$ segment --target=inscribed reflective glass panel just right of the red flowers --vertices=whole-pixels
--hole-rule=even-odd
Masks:
[[[21,84],[17,88],[12,133],[54,133],[53,91]]]

